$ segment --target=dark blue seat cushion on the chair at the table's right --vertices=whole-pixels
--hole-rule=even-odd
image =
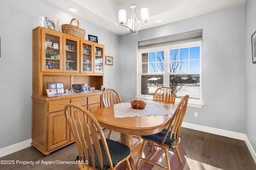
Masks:
[[[166,131],[167,131],[167,129],[163,129],[161,132],[156,133],[154,135],[147,135],[147,136],[141,136],[141,137],[142,137],[142,139],[154,141],[156,143],[162,143]],[[170,136],[171,136],[171,132],[169,131],[164,143],[169,144],[170,145],[169,149],[172,149],[172,143],[175,141],[175,140],[173,140],[174,139],[174,133],[172,134],[172,139],[171,140],[170,140]]]

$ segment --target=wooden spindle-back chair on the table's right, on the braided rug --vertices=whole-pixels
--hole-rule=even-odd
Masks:
[[[161,168],[165,168],[170,170],[170,160],[168,156],[168,151],[176,152],[178,154],[178,158],[180,160],[180,163],[182,164],[182,158],[180,157],[180,152],[178,150],[178,145],[180,145],[180,128],[181,124],[184,118],[184,115],[186,113],[187,105],[188,105],[188,98],[189,96],[186,95],[184,98],[182,98],[180,104],[176,108],[174,115],[172,119],[169,121],[167,129],[163,129],[160,133],[154,134],[154,135],[148,135],[148,136],[141,136],[143,139],[142,147],[140,149],[139,158],[136,164],[136,168],[140,166],[140,160],[144,160],[146,162],[149,162],[151,164],[154,164],[156,166],[159,166]],[[142,158],[143,150],[146,145],[146,143],[150,142],[151,145],[155,145],[156,147],[159,147],[159,149],[154,153],[154,155],[149,159]],[[173,150],[175,148],[175,151]],[[156,154],[159,152],[160,149],[164,149],[165,158],[166,158],[166,165],[167,167],[164,167],[160,165],[162,160],[159,162],[153,162],[152,159]]]

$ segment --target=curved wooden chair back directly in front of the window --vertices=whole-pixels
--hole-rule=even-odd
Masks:
[[[160,87],[156,89],[153,100],[157,102],[163,102],[166,104],[174,104],[175,98],[176,98],[176,95],[172,88]]]

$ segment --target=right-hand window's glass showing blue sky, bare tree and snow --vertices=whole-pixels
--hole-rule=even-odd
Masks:
[[[199,74],[172,74],[172,73],[192,73],[200,68],[200,48],[190,47],[170,50],[170,88],[176,93],[176,97],[189,94],[190,98],[199,99]],[[197,53],[197,57],[194,57]],[[194,63],[194,61],[199,61]],[[198,93],[196,93],[198,91]],[[193,94],[193,95],[192,95]]]

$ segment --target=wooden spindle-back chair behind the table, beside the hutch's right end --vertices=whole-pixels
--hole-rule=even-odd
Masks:
[[[105,90],[103,90],[102,95],[101,95],[101,101],[104,107],[108,107],[108,106],[112,106],[114,104],[118,104],[121,103],[121,98],[118,94],[118,92],[116,92],[116,90],[112,89],[112,88],[107,88]],[[108,139],[110,138],[111,135],[111,130],[109,130],[108,132]]]

